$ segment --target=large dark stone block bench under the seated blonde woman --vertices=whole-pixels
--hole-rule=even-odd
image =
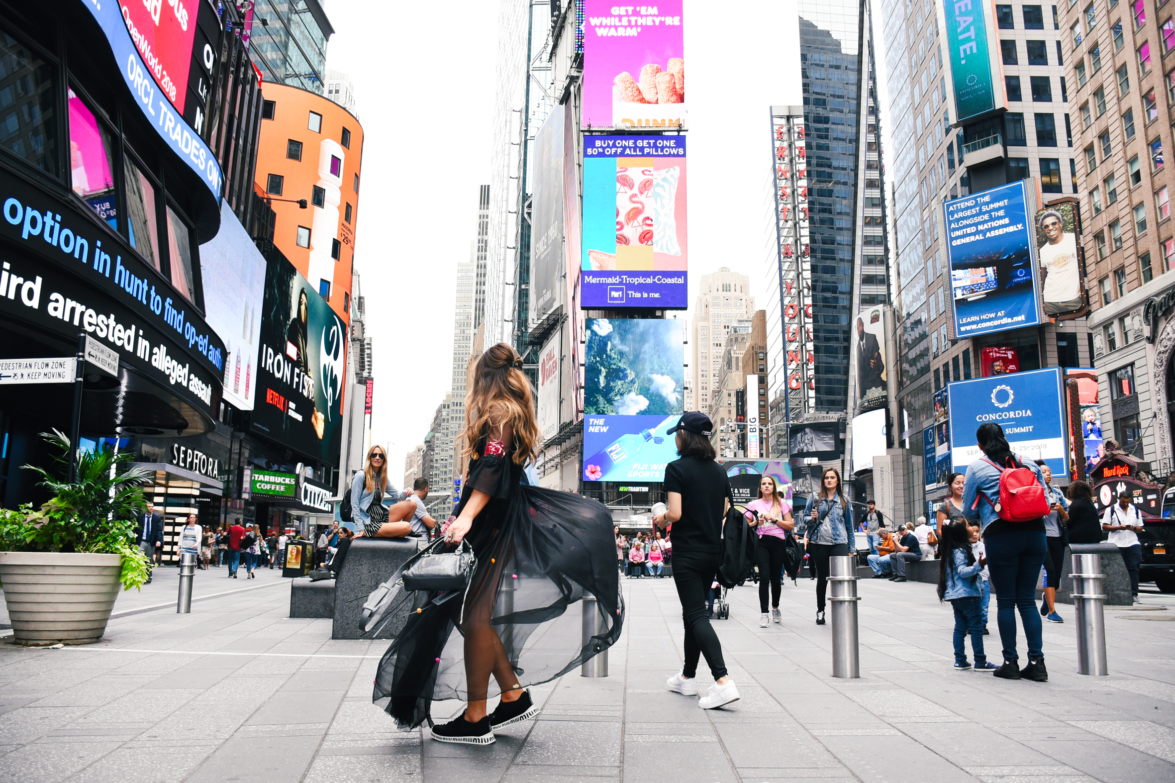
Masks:
[[[400,616],[371,636],[363,633],[363,602],[397,568],[416,554],[418,538],[355,538],[335,583],[334,630],[331,638],[391,638],[404,627],[411,601],[405,601]],[[397,597],[400,602],[402,598]]]

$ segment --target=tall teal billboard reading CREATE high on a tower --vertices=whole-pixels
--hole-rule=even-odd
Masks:
[[[954,85],[955,122],[1005,105],[1003,83],[994,54],[992,7],[980,0],[944,4],[946,52]]]

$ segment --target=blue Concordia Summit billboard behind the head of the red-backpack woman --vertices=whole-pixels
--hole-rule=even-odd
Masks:
[[[1062,373],[1050,367],[947,386],[951,469],[964,473],[973,460],[982,457],[975,430],[982,423],[995,422],[1021,459],[1043,460],[1054,474],[1068,475]]]

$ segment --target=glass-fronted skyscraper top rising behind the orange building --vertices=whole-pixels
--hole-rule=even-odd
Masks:
[[[264,81],[323,94],[327,41],[335,28],[318,0],[257,0],[249,33]]]

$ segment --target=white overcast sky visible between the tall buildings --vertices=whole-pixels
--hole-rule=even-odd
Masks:
[[[477,188],[489,182],[497,8],[325,4],[337,31],[327,65],[350,74],[365,133],[355,266],[374,340],[374,439],[397,478],[450,390],[457,263],[469,257]],[[761,307],[768,112],[801,102],[799,33],[785,24],[795,0],[713,11],[686,0],[690,302],[700,275],[730,267],[750,275]]]

